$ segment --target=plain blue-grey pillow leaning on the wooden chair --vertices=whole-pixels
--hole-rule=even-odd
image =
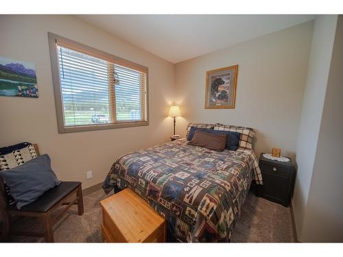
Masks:
[[[0,176],[10,187],[18,209],[60,184],[51,169],[51,160],[47,154],[29,160],[19,167],[0,171]]]

